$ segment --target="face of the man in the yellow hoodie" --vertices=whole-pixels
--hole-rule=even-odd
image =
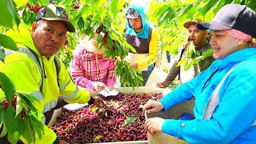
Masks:
[[[66,25],[61,21],[40,20],[32,25],[34,46],[39,53],[49,58],[56,54],[66,42]]]

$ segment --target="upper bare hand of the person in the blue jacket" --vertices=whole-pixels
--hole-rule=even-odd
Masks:
[[[143,106],[143,114],[145,112],[145,110],[147,111],[148,114],[150,113],[155,113],[158,112],[160,110],[162,110],[164,108],[164,106],[162,105],[161,102],[158,101],[153,101],[153,100],[149,100],[148,102],[146,102],[146,104]]]

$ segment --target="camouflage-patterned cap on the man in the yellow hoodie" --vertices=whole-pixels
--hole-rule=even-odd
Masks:
[[[74,25],[69,21],[66,10],[54,4],[42,7],[38,10],[38,15],[36,22],[40,19],[45,19],[47,21],[62,21],[66,24],[67,31],[75,32]]]

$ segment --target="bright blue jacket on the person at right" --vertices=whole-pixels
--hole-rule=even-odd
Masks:
[[[214,114],[210,120],[202,120],[210,95],[237,62],[240,63],[219,90],[219,102]],[[215,70],[217,71],[213,74]],[[163,133],[191,143],[256,143],[256,126],[251,126],[256,120],[255,48],[238,50],[222,60],[214,61],[207,70],[179,86],[159,102],[167,110],[192,98],[192,95],[195,95],[195,119],[166,119],[162,125]]]

